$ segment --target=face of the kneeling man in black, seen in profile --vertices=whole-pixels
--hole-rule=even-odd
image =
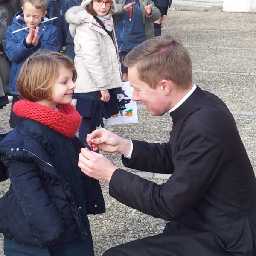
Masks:
[[[151,116],[162,116],[169,110],[162,87],[157,85],[156,89],[152,89],[148,84],[141,81],[137,71],[137,64],[128,68],[128,78],[131,87],[134,88],[132,100],[140,101],[143,105],[146,105],[146,109]]]

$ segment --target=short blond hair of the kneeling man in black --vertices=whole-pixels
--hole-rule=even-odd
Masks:
[[[192,61],[183,44],[171,36],[154,37],[131,50],[124,60],[126,67],[137,64],[139,79],[155,89],[162,80],[177,88],[192,84]]]

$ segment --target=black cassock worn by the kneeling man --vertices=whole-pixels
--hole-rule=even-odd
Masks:
[[[170,115],[168,143],[133,141],[131,159],[122,156],[125,166],[169,180],[157,185],[117,169],[109,186],[123,204],[170,222],[104,255],[255,256],[256,180],[232,114],[197,87]]]

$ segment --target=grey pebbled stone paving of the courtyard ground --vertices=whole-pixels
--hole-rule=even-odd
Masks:
[[[212,9],[211,6],[202,8],[207,11],[197,8],[182,11],[186,8],[177,7],[177,2],[173,0],[168,16],[164,18],[163,34],[183,41],[192,57],[195,84],[219,96],[230,108],[256,171],[256,14],[221,12],[220,8],[214,7],[221,5],[218,0],[212,1]],[[167,141],[172,128],[169,115],[152,117],[143,105],[137,107],[138,124],[107,125],[107,128],[126,138]],[[10,129],[9,108],[0,110],[0,133]],[[119,154],[105,155],[117,166],[122,166]],[[156,183],[163,183],[169,177],[129,171]],[[120,204],[108,195],[108,183],[101,182],[101,185],[107,212],[90,216],[96,256],[114,245],[163,231],[166,221]],[[3,194],[8,186],[8,181],[0,183],[0,192]]]

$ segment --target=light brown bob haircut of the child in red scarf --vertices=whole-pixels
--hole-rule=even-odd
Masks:
[[[18,79],[17,90],[21,99],[36,102],[52,98],[52,86],[58,78],[60,66],[72,70],[72,81],[77,73],[73,61],[64,54],[53,51],[39,50],[24,62]]]

